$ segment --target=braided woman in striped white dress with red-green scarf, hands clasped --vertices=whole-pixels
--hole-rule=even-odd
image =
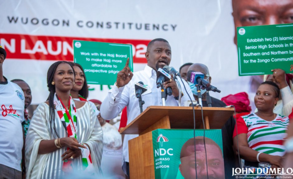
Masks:
[[[71,98],[74,80],[68,62],[48,70],[48,101],[35,111],[25,140],[27,178],[101,173],[103,132],[91,105]]]

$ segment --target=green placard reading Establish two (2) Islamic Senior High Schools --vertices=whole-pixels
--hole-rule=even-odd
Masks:
[[[293,72],[293,24],[237,28],[239,76]]]

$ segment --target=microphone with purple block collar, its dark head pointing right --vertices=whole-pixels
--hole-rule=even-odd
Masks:
[[[217,87],[212,86],[211,83],[209,83],[207,80],[204,79],[204,77],[205,77],[205,75],[200,72],[196,72],[193,70],[189,70],[187,72],[187,81],[190,81],[193,84],[202,85],[208,91],[221,93],[221,91],[218,90]]]

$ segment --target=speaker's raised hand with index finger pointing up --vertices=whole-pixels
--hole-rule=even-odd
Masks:
[[[132,71],[130,71],[130,68],[128,65],[129,65],[129,58],[127,58],[125,67],[121,71],[119,71],[117,74],[116,84],[118,87],[123,87],[127,85],[132,79],[133,73]]]

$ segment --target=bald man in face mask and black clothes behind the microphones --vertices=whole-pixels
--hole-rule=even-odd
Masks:
[[[209,75],[209,69],[207,68],[206,65],[201,64],[201,63],[195,63],[191,65],[188,68],[189,70],[193,70],[196,72],[201,72],[205,75],[204,79],[207,80],[209,83],[212,82],[212,77]],[[193,96],[195,100],[198,101],[197,98],[197,90],[195,87],[195,84],[188,82],[191,91],[193,93]],[[203,107],[208,107],[207,106],[207,93],[206,90],[201,89],[200,93],[202,94],[202,106]],[[222,102],[221,100],[218,100],[216,98],[213,98],[211,96],[211,101],[212,101],[212,107],[224,107],[226,104]],[[222,120],[222,119],[219,119]],[[231,116],[225,125],[222,127],[222,139],[223,139],[223,153],[224,153],[224,164],[225,164],[225,178],[231,178],[232,176],[232,168],[236,168],[235,165],[238,165],[236,162],[236,158],[234,155],[234,150],[233,150],[233,131],[234,131],[234,126],[235,126],[235,120],[234,117]]]

